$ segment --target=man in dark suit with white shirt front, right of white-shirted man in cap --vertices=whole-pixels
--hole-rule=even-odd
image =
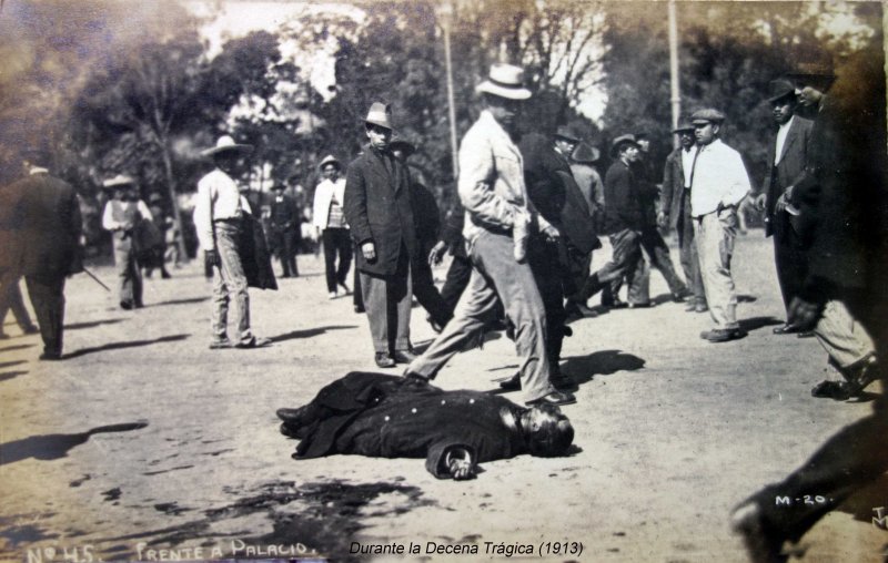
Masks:
[[[798,209],[791,205],[787,208],[787,202],[790,201],[795,185],[805,173],[805,158],[813,123],[795,114],[796,89],[786,80],[776,80],[771,83],[768,102],[771,105],[777,131],[770,141],[768,158],[771,162],[758,202],[765,209],[765,236],[774,236],[777,279],[784,306],[788,310],[789,304],[798,295],[799,286],[805,280],[807,260],[794,219],[798,215]],[[774,329],[775,335],[795,331],[797,329],[786,323]]]

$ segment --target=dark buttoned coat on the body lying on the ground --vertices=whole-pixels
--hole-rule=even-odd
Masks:
[[[523,410],[507,399],[403,382],[397,376],[353,371],[321,389],[296,455],[425,458],[426,469],[445,478],[443,460],[452,448],[467,449],[482,463],[527,452],[518,430],[500,416],[501,409],[515,417]]]

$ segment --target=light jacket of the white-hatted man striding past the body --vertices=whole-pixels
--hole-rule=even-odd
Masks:
[[[516,214],[532,214],[524,184],[524,161],[508,133],[487,110],[460,145],[460,201],[463,236],[472,244],[484,231],[511,233]],[[538,217],[541,227],[546,223]]]

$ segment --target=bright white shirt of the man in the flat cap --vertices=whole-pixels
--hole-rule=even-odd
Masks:
[[[690,214],[702,217],[722,207],[740,204],[751,184],[740,153],[716,139],[702,145],[694,164]]]

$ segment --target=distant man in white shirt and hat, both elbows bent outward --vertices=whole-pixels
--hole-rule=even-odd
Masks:
[[[139,265],[137,227],[142,221],[153,221],[151,209],[139,197],[135,180],[118,174],[102,183],[113,190],[112,198],[104,205],[102,227],[111,232],[114,245],[114,265],[120,279],[120,307],[142,307],[142,268]]]

